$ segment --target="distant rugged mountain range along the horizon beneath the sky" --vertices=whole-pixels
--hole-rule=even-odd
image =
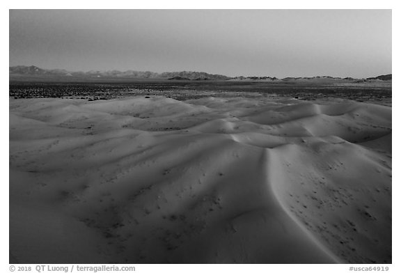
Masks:
[[[43,69],[38,68],[35,65],[25,66],[11,66],[9,70],[10,79],[61,79],[61,80],[73,80],[73,79],[171,79],[171,80],[260,80],[260,81],[302,81],[302,80],[333,80],[344,79],[349,81],[356,81],[360,79],[354,78],[338,78],[338,77],[286,77],[278,79],[276,77],[228,77],[224,75],[214,75],[206,72],[194,72],[194,71],[181,71],[181,72],[163,72],[156,73],[150,71],[119,71],[119,70],[91,70],[88,72],[72,72],[63,69]],[[363,80],[381,80],[389,81],[392,79],[392,75],[381,75],[378,77],[371,77]]]

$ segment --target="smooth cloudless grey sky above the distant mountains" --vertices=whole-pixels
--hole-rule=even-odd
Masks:
[[[10,66],[228,76],[391,73],[391,10],[10,10]]]

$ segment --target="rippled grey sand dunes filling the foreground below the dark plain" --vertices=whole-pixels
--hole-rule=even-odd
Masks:
[[[19,263],[391,263],[391,107],[10,100]]]

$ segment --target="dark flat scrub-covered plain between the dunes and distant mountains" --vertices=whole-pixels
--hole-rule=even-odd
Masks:
[[[175,100],[255,95],[318,100],[343,98],[359,102],[391,99],[391,84],[356,86],[249,81],[133,81],[129,83],[27,83],[10,81],[11,98],[110,100],[132,95],[164,95]]]

